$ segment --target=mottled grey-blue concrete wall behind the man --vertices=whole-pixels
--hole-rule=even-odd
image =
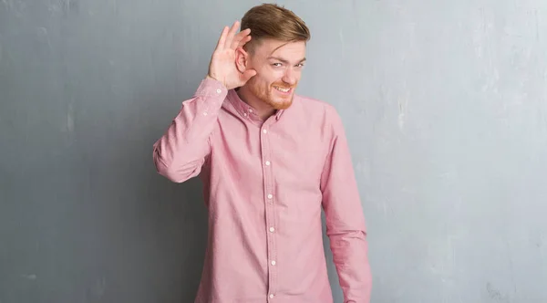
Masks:
[[[0,1],[0,302],[191,302],[201,185],[151,145],[259,3]],[[547,301],[547,2],[282,3],[299,92],[346,124],[373,302]]]

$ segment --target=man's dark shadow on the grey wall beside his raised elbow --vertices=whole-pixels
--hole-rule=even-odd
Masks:
[[[154,289],[157,293],[151,299],[157,302],[193,302],[207,244],[207,210],[201,181],[193,178],[185,183],[172,183],[156,172],[152,161],[152,144],[167,130],[171,119],[180,110],[181,101],[189,98],[191,93],[193,89],[187,89],[179,96],[164,98],[155,95],[144,100],[144,104],[153,104],[158,111],[148,108],[135,112],[143,116],[140,120],[149,121],[150,127],[143,126],[136,136],[146,134],[145,138],[128,149],[129,153],[134,151],[133,148],[144,149],[139,153],[141,158],[136,159],[144,163],[142,183],[135,188],[146,197],[139,201],[142,214],[150,219],[152,232],[147,243],[154,250],[151,256],[156,257],[150,266],[155,267],[152,272],[161,275],[150,278],[150,283],[156,281],[154,287],[157,287]],[[166,109],[162,104],[174,104],[174,107]],[[145,269],[143,274],[147,273]]]

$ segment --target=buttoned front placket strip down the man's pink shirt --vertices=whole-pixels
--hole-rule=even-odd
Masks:
[[[272,162],[270,162],[271,151],[270,151],[270,136],[267,135],[267,127],[269,122],[265,121],[263,123],[263,129],[261,131],[260,140],[261,140],[261,149],[262,149],[262,159],[263,159],[263,186],[264,186],[264,210],[266,212],[266,226],[269,226],[269,233],[266,233],[267,238],[267,258],[268,258],[268,292],[270,293],[269,298],[274,298],[274,293],[276,291],[276,242],[274,237],[274,226],[275,226],[275,199],[274,199],[274,174],[272,172]]]

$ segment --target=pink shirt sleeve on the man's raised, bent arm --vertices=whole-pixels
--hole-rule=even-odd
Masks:
[[[182,183],[201,172],[211,152],[210,136],[227,94],[220,81],[205,78],[193,97],[182,102],[178,115],[153,145],[154,165],[161,175]]]

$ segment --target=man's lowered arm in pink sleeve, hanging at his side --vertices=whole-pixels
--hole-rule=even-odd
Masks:
[[[369,303],[372,286],[368,264],[365,216],[346,141],[335,109],[327,106],[332,121],[330,152],[321,176],[326,235],[344,292],[345,303]]]

